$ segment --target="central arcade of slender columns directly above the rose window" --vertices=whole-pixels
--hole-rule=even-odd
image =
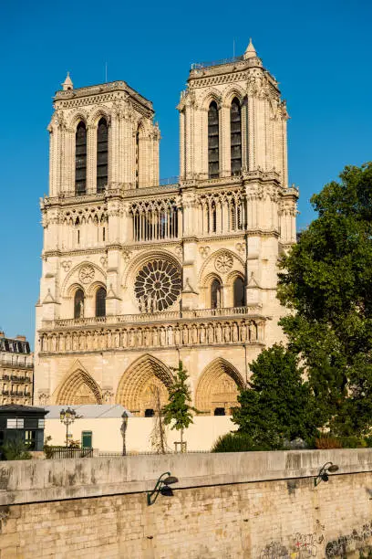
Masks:
[[[159,240],[178,237],[178,208],[175,200],[154,200],[131,206],[133,239]]]

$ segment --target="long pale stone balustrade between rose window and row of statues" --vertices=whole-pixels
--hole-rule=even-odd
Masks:
[[[191,311],[141,312],[138,314],[121,314],[113,316],[92,316],[82,319],[58,319],[55,322],[45,321],[46,326],[70,327],[88,326],[89,324],[119,324],[122,322],[164,322],[167,320],[201,319],[210,317],[233,317],[253,315],[261,311],[258,305],[250,307],[225,307],[221,309],[194,309]]]

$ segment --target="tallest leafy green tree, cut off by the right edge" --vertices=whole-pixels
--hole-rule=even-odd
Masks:
[[[372,163],[349,166],[311,203],[318,216],[281,267],[289,349],[338,435],[372,427]]]

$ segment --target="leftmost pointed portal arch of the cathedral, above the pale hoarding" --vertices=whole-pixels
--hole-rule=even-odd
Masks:
[[[78,406],[82,404],[102,404],[102,396],[96,381],[87,373],[78,369],[67,376],[56,397],[60,406]]]

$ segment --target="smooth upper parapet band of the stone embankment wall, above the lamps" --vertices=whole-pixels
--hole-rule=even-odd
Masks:
[[[6,461],[0,469],[0,505],[145,492],[164,471],[178,478],[176,490],[315,478],[326,462],[339,468],[332,476],[370,472],[372,449]]]

